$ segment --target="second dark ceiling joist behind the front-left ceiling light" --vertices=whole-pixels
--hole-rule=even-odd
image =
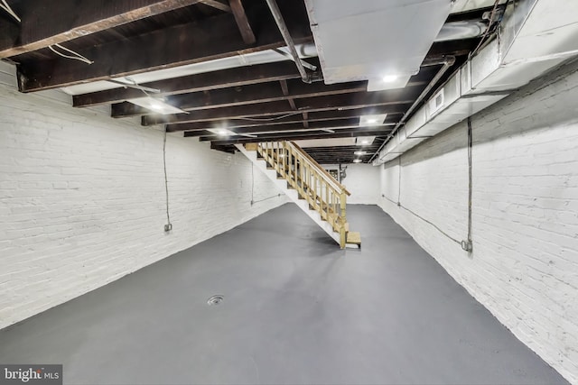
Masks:
[[[396,115],[402,115],[403,111],[392,112],[391,107],[370,107],[370,108],[358,108],[343,111],[319,111],[312,113],[304,113],[307,115],[308,122],[322,122],[331,120],[347,119],[350,117],[359,117],[361,115],[382,115],[387,114],[386,122],[396,122]],[[397,116],[398,117],[398,116]],[[273,125],[283,125],[283,124],[300,124],[302,118],[299,115],[290,115],[282,119],[276,119],[274,121],[252,121],[247,119],[229,119],[223,121],[201,121],[198,123],[183,123],[183,124],[166,124],[166,130],[169,133],[174,133],[178,131],[203,131],[208,128],[214,128],[215,126],[223,127],[226,126],[228,129],[233,131],[241,127],[254,127],[259,128],[263,126],[273,126]],[[307,128],[307,127],[305,127]]]

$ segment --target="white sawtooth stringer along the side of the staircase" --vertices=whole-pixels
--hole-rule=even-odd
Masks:
[[[315,210],[310,210],[309,203],[305,199],[299,199],[299,193],[297,192],[297,190],[293,188],[287,188],[286,179],[277,179],[277,171],[267,169],[267,162],[265,160],[257,158],[256,151],[247,151],[245,146],[243,146],[242,144],[236,144],[235,147],[237,147],[238,151],[241,151],[247,157],[248,160],[251,160],[253,165],[258,170],[261,170],[261,172],[263,172],[268,179],[270,179],[273,183],[275,183],[275,186],[277,186],[277,188],[283,191],[284,194],[287,197],[289,197],[289,199],[291,199],[295,205],[301,208],[303,213],[312,218],[313,222],[319,225],[323,229],[323,231],[327,233],[329,236],[331,236],[331,238],[335,242],[337,242],[338,244],[340,243],[340,234],[334,232],[331,225],[326,221],[322,220],[322,215],[320,215]]]

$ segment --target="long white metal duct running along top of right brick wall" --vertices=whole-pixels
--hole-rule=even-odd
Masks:
[[[498,38],[466,61],[417,110],[376,154],[373,165],[395,159],[576,56],[576,14],[576,1],[520,0],[508,6]]]

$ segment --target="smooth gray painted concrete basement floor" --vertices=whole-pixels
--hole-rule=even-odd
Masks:
[[[377,206],[348,216],[361,251],[281,206],[0,331],[0,362],[70,384],[567,383]]]

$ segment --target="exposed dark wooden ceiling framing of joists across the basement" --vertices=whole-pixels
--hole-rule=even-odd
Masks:
[[[367,81],[326,85],[317,58],[307,58],[313,80],[304,83],[295,63],[279,55],[275,62],[242,65],[255,52],[282,49],[266,0],[116,0],[79,2],[7,0],[22,19],[0,10],[0,59],[17,64],[21,92],[51,88],[80,89],[107,79],[142,76],[160,69],[183,69],[195,63],[238,58],[235,68],[202,73],[176,71],[140,82],[158,90],[155,97],[185,111],[158,115],[129,99],[143,97],[135,87],[114,85],[95,92],[72,92],[74,107],[111,105],[113,118],[141,116],[143,125],[164,124],[167,132],[210,142],[234,151],[244,142],[376,137],[366,146],[310,147],[322,163],[368,161],[415,99],[455,56],[452,69],[467,58],[479,38],[434,42],[419,73],[407,87],[368,92]],[[303,0],[277,0],[296,44],[311,44],[312,31]],[[452,14],[448,21],[479,20],[487,9]],[[49,50],[61,44],[93,61],[62,58]],[[285,53],[286,54],[286,53]],[[451,73],[439,80],[441,84]],[[76,88],[75,88],[76,87]],[[359,125],[362,115],[386,115],[383,123]],[[227,129],[222,136],[219,129]],[[230,134],[230,133],[234,134]],[[354,142],[354,141],[353,141]],[[355,155],[354,152],[358,152]],[[365,154],[359,155],[359,151]]]

